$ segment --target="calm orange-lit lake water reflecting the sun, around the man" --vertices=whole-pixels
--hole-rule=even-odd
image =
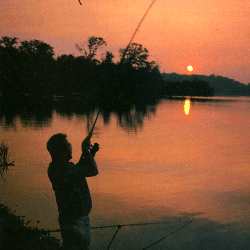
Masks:
[[[76,162],[96,112],[22,112],[1,115],[0,139],[15,166],[0,180],[0,199],[30,225],[57,229],[46,142],[65,132]],[[246,97],[163,100],[143,112],[100,116],[92,137],[100,174],[88,178],[92,226],[188,218],[249,231],[249,131]]]

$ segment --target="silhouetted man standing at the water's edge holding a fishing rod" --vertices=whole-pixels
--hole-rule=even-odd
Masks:
[[[88,250],[90,246],[88,215],[92,201],[85,177],[98,174],[94,156],[99,150],[97,143],[90,149],[90,137],[82,142],[82,155],[77,164],[70,162],[72,146],[67,135],[55,134],[47,142],[52,158],[48,176],[55,191],[63,249],[67,250]]]

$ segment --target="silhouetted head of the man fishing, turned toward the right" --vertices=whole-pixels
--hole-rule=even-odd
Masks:
[[[55,134],[47,142],[47,149],[52,161],[68,162],[72,159],[72,146],[67,140],[66,134]]]

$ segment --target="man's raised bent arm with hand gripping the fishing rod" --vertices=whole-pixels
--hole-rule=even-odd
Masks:
[[[94,157],[90,153],[90,137],[88,135],[82,142],[82,155],[79,162],[76,164],[81,167],[81,172],[85,177],[96,176],[98,168]]]

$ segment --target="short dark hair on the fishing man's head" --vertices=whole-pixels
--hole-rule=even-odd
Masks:
[[[67,135],[58,133],[50,137],[47,142],[47,149],[53,158],[60,157],[61,153],[68,149]]]

